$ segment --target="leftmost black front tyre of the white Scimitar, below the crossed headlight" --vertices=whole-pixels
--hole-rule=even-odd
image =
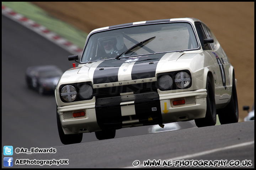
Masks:
[[[57,113],[57,126],[58,126],[60,141],[64,145],[80,143],[82,141],[82,134],[71,134],[71,135],[64,134],[58,113]]]

